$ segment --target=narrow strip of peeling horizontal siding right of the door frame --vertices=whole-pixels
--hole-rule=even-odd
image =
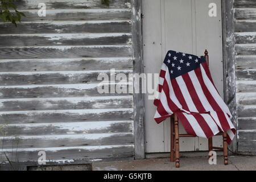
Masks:
[[[256,151],[256,1],[235,0],[238,152]]]

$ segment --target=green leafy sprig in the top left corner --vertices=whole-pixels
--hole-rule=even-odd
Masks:
[[[24,15],[24,13],[19,12],[17,10],[16,5],[14,4],[13,0],[0,0],[0,18],[3,22],[11,22],[17,27],[16,22],[20,22],[20,19]],[[10,12],[10,9],[13,9],[15,13]]]

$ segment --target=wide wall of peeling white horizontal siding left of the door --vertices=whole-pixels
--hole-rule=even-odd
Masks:
[[[133,73],[130,0],[15,2],[26,17],[0,23],[1,152],[20,162],[42,150],[51,162],[134,158],[133,93],[100,94],[97,79]]]

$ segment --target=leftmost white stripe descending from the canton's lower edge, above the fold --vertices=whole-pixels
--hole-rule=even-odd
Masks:
[[[183,77],[178,76],[175,79],[177,80],[177,84],[179,85],[181,93],[183,94],[184,100],[188,105],[189,111],[198,113],[198,110],[196,109],[196,106],[195,106],[194,102],[192,101],[192,98],[188,92],[188,88],[183,80]]]

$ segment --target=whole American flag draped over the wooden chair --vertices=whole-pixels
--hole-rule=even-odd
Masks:
[[[176,113],[188,134],[210,138],[226,131],[228,144],[236,134],[232,115],[214,86],[204,56],[168,51],[154,105],[157,123]]]

